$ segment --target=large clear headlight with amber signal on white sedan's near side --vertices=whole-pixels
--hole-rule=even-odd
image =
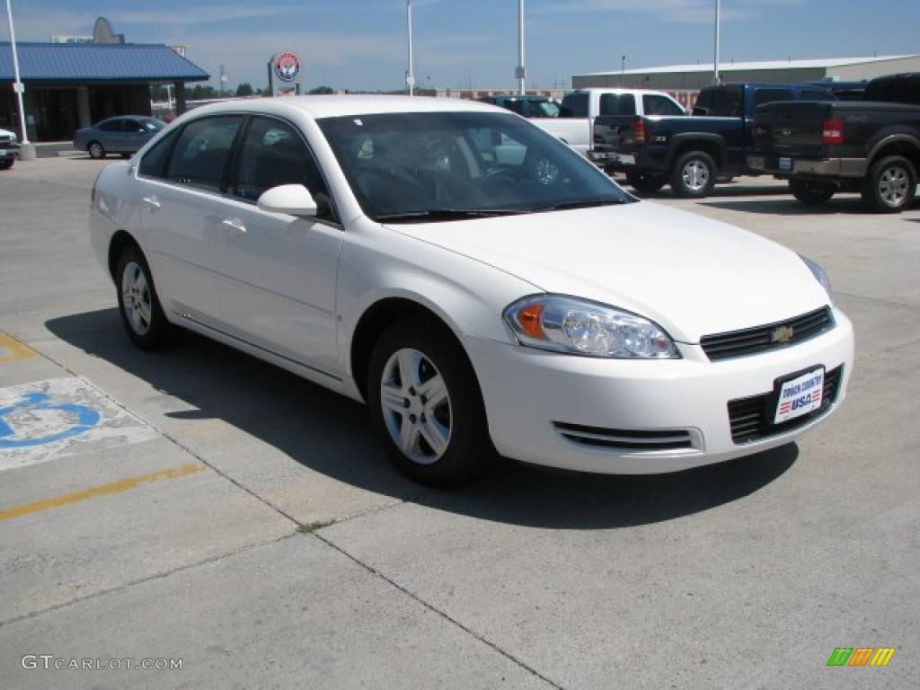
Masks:
[[[615,359],[680,359],[673,340],[647,318],[558,294],[524,297],[502,316],[522,345]]]

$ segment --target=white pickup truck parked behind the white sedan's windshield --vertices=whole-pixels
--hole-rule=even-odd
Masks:
[[[540,129],[569,144],[595,163],[606,155],[594,150],[594,121],[600,116],[686,115],[684,107],[663,91],[630,88],[584,88],[562,98],[557,118],[534,118]]]

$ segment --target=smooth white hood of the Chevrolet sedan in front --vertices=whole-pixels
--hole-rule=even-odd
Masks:
[[[788,248],[649,201],[389,227],[547,293],[646,316],[682,342],[763,326],[829,303],[811,270]]]

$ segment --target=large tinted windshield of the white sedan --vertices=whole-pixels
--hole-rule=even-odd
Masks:
[[[512,114],[410,112],[317,124],[375,220],[449,220],[631,199],[569,146]]]

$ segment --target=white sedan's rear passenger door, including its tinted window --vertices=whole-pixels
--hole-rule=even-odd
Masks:
[[[156,145],[138,167],[144,249],[161,302],[173,315],[212,328],[220,320],[215,247],[228,232],[221,224],[223,194],[243,120],[214,115],[190,121],[163,140],[172,142],[167,150]]]

